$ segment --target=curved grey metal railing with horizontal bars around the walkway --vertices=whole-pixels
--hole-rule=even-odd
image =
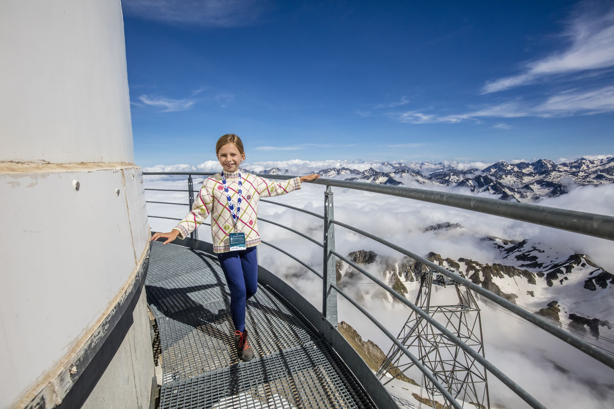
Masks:
[[[144,172],[144,175],[185,175],[188,177],[188,194],[190,197],[190,208],[193,203],[193,187],[192,187],[192,176],[209,176],[213,175],[212,172]],[[291,175],[259,175],[261,177],[270,178],[270,179],[288,179],[292,178]],[[445,397],[445,399],[455,408],[462,408],[459,402],[454,399],[453,396],[449,393],[449,391],[443,386],[437,378],[433,375],[433,373],[426,369],[421,362],[413,355],[411,352],[405,348],[397,338],[391,334],[381,323],[377,321],[370,313],[368,313],[364,308],[362,308],[355,300],[352,299],[351,296],[346,294],[343,289],[339,288],[336,285],[336,267],[335,262],[336,258],[343,260],[348,263],[349,266],[352,266],[358,272],[362,273],[365,277],[369,278],[376,285],[381,286],[385,291],[391,294],[392,297],[398,299],[400,302],[405,304],[407,307],[411,308],[416,314],[421,316],[427,322],[432,324],[433,327],[437,328],[438,331],[441,331],[449,340],[454,342],[457,346],[459,346],[463,351],[465,351],[468,355],[472,356],[476,361],[478,361],[483,367],[492,373],[495,377],[497,377],[503,384],[505,384],[511,391],[515,392],[521,399],[527,402],[530,407],[533,408],[544,408],[542,403],[538,402],[534,397],[532,397],[528,392],[526,392],[521,386],[516,384],[513,380],[511,380],[505,373],[499,370],[495,365],[485,359],[480,353],[473,350],[470,346],[464,343],[459,337],[454,335],[445,326],[438,323],[437,320],[433,319],[432,316],[428,315],[424,311],[422,311],[415,304],[406,299],[402,294],[399,294],[397,291],[386,285],[383,281],[371,275],[371,273],[367,272],[362,267],[358,266],[355,262],[352,262],[342,254],[339,254],[335,250],[335,225],[343,227],[344,229],[349,229],[353,232],[356,232],[364,237],[368,237],[369,239],[375,240],[386,247],[389,247],[395,251],[398,251],[405,256],[408,256],[416,261],[422,262],[422,264],[426,265],[430,269],[435,272],[443,274],[445,277],[451,278],[457,283],[461,283],[472,291],[477,292],[481,296],[485,297],[491,302],[499,305],[500,307],[506,308],[510,312],[518,315],[519,317],[526,319],[530,323],[534,324],[537,327],[540,327],[546,332],[549,332],[551,335],[563,340],[564,342],[572,345],[583,353],[588,354],[589,356],[597,359],[597,361],[602,362],[608,367],[614,369],[614,356],[605,351],[596,348],[595,346],[585,342],[581,338],[576,337],[573,334],[570,334],[564,329],[554,325],[546,321],[546,319],[540,318],[540,316],[535,315],[532,312],[528,312],[524,308],[519,307],[513,302],[504,299],[503,297],[497,296],[493,292],[490,292],[479,285],[476,285],[470,280],[462,277],[461,275],[445,269],[444,267],[435,264],[428,259],[419,256],[419,254],[413,253],[405,248],[402,248],[398,245],[395,245],[388,240],[381,239],[376,235],[373,235],[369,232],[358,229],[357,227],[351,226],[346,223],[342,223],[341,221],[335,220],[334,218],[334,204],[333,204],[333,192],[332,187],[345,188],[345,189],[354,189],[360,191],[367,191],[372,193],[385,194],[389,196],[396,197],[404,197],[406,199],[414,199],[418,201],[430,202],[434,204],[446,205],[450,207],[462,208],[465,210],[471,210],[473,212],[486,213],[489,215],[500,216],[504,218],[510,218],[513,220],[523,221],[527,223],[540,224],[542,226],[553,227],[555,229],[562,229],[566,231],[577,232],[580,234],[591,235],[594,237],[599,237],[602,239],[614,240],[614,217],[605,216],[605,215],[597,215],[593,213],[584,213],[577,212],[574,210],[564,210],[559,208],[545,207],[540,205],[532,205],[532,204],[522,204],[516,202],[505,202],[497,199],[489,199],[485,197],[476,197],[476,196],[467,196],[462,194],[454,194],[454,193],[444,193],[438,191],[430,191],[427,189],[417,189],[417,188],[408,188],[404,186],[387,186],[387,185],[376,185],[372,183],[365,182],[348,182],[344,180],[332,180],[332,179],[324,179],[319,178],[314,180],[313,183],[316,185],[324,185],[324,216],[318,215],[314,212],[309,212],[308,210],[303,210],[298,207],[293,207],[287,204],[281,204],[274,201],[262,200],[262,202],[271,203],[275,205],[280,205],[282,207],[291,208],[298,212],[306,213],[308,215],[320,218],[324,221],[324,241],[323,243],[318,242],[317,240],[309,237],[302,232],[299,232],[292,227],[284,226],[283,224],[275,223],[270,220],[266,220],[263,218],[258,218],[259,220],[265,221],[266,223],[274,224],[276,226],[282,227],[291,231],[301,237],[315,243],[319,247],[323,248],[323,257],[324,257],[324,266],[322,274],[317,272],[313,267],[308,266],[305,262],[296,258],[292,254],[283,250],[282,248],[273,245],[272,243],[268,243],[263,241],[265,245],[270,246],[281,253],[286,254],[290,258],[294,259],[306,269],[315,273],[318,277],[322,279],[322,315],[333,325],[337,324],[337,294],[340,294],[345,299],[348,300],[354,307],[356,307],[360,312],[362,312],[367,318],[369,318],[383,333],[391,339],[395,345],[397,345],[405,356],[407,356],[415,365],[418,367],[422,373],[433,383],[433,385],[441,392],[441,394]],[[177,191],[177,192],[186,192],[185,189],[155,189],[155,188],[146,188],[149,191]],[[171,202],[154,202],[148,201],[148,203],[158,203],[158,204],[171,204],[171,205],[187,205],[187,204],[178,204]],[[152,218],[165,218],[172,220],[181,220],[178,218],[169,218],[165,216],[155,216],[149,215]],[[206,223],[205,223],[206,224]]]

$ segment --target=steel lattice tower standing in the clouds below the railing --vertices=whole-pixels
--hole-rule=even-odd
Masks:
[[[441,286],[440,291],[433,294],[433,289],[436,288],[433,285]],[[456,290],[456,297],[453,289]],[[456,304],[443,304],[443,301],[454,298],[457,299]],[[480,308],[468,288],[433,271],[422,273],[420,290],[414,304],[484,356]],[[457,400],[472,402],[478,408],[490,408],[484,367],[424,318],[412,312],[397,339],[432,371],[435,378]],[[393,344],[379,367],[377,377],[383,380],[386,375],[391,376],[392,378],[384,381],[386,384],[405,373],[411,366],[413,363],[410,359]],[[434,401],[435,397],[441,396],[441,392],[424,375],[422,386],[426,389],[429,399]]]

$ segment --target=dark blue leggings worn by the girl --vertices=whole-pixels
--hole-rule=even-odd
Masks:
[[[258,256],[256,247],[217,253],[230,288],[230,313],[235,330],[245,330],[245,302],[258,289]]]

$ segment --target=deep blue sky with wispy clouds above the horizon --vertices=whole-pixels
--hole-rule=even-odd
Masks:
[[[614,3],[123,0],[141,166],[614,153]]]

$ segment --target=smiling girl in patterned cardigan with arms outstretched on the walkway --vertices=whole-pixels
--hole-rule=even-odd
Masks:
[[[246,301],[258,288],[258,258],[260,244],[257,212],[260,197],[278,196],[301,188],[301,182],[314,180],[317,174],[301,176],[284,182],[271,182],[255,175],[241,173],[245,160],[243,142],[235,134],[222,136],[216,143],[216,155],[222,172],[208,177],[198,193],[192,211],[168,233],[155,233],[152,240],[177,237],[185,239],[204,223],[211,213],[211,238],[230,288],[230,310],[235,324],[235,344],[243,361],[254,358],[247,342],[245,329]]]

